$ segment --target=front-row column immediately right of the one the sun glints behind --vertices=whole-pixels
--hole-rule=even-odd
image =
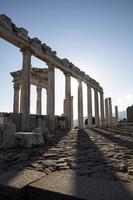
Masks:
[[[91,86],[87,85],[87,111],[88,111],[88,126],[92,127],[92,92]]]

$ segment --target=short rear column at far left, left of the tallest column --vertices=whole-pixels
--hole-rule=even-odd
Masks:
[[[14,83],[14,101],[13,101],[13,112],[19,112],[19,91],[20,91],[20,84]]]

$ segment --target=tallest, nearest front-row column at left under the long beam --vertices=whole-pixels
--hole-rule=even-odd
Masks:
[[[31,69],[31,51],[21,50],[23,54],[23,65],[21,75],[21,101],[20,112],[30,113],[30,69]]]

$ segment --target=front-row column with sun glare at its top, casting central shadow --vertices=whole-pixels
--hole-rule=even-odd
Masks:
[[[82,81],[78,80],[78,128],[83,128],[83,92]]]

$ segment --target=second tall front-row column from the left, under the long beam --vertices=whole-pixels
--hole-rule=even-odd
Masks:
[[[48,65],[48,88],[47,88],[47,115],[55,114],[55,68],[51,63]]]

